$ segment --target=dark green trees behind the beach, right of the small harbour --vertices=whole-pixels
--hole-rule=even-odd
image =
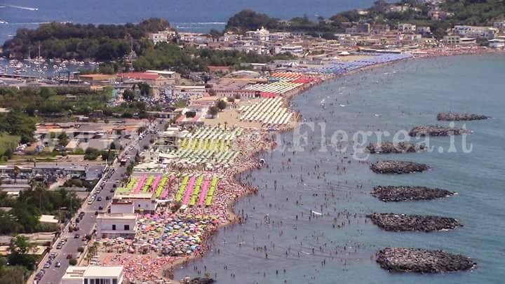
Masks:
[[[243,62],[267,63],[276,59],[290,59],[290,55],[266,56],[243,53],[237,50],[211,50],[180,48],[173,43],[159,43],[140,55],[133,67],[136,70],[173,69],[181,74],[191,71],[206,71],[209,65],[233,66],[240,69]]]

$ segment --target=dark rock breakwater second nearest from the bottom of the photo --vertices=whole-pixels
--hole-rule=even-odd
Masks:
[[[440,231],[455,229],[462,224],[454,218],[430,215],[398,215],[373,213],[367,215],[373,224],[385,231]]]

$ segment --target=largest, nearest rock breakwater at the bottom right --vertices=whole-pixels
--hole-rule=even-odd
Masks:
[[[377,263],[390,272],[417,273],[465,271],[476,265],[463,255],[420,248],[384,248],[377,253]]]

